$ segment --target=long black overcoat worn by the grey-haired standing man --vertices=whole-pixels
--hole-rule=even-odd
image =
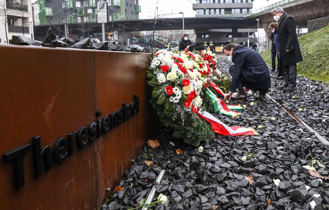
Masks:
[[[303,61],[296,34],[296,21],[286,12],[280,17],[278,24],[279,53],[284,66]],[[286,52],[286,50],[291,50]]]

